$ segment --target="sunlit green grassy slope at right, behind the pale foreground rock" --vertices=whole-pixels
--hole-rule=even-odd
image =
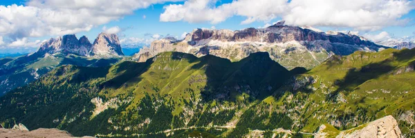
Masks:
[[[293,95],[290,100],[297,100],[293,108],[304,132],[325,123],[344,130],[393,115],[406,136],[414,135],[414,66],[415,50],[335,56],[296,77],[275,97]],[[279,100],[288,101],[286,97]]]

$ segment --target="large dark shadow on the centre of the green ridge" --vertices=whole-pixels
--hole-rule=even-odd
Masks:
[[[257,52],[238,62],[207,55],[192,66],[205,70],[207,83],[201,89],[203,101],[254,101],[264,99],[283,85],[291,72],[270,59],[268,53]]]

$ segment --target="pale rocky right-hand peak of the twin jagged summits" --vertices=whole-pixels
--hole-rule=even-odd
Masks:
[[[100,33],[93,42],[93,48],[91,50],[91,55],[98,56],[122,56],[120,40],[116,34],[106,34],[104,32]]]

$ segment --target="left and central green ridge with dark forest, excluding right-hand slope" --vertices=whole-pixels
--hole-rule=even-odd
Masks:
[[[0,114],[6,126],[17,121],[31,129],[58,127],[75,135],[154,133],[187,126],[225,125],[237,110],[268,97],[290,76],[291,72],[264,52],[234,63],[213,56],[198,59],[165,52],[145,63],[125,61],[109,68],[59,67],[1,97],[0,109],[10,112]],[[118,108],[92,115],[97,105],[91,99],[98,97],[104,102],[112,100]],[[50,113],[53,108],[59,110]],[[33,119],[36,117],[43,118],[41,123]],[[146,124],[146,119],[151,123]],[[78,127],[96,123],[116,128]]]

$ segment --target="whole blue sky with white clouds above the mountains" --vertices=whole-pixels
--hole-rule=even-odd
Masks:
[[[76,34],[77,37],[86,35],[93,41],[100,32],[105,31],[104,26],[120,28],[116,31],[120,39],[140,39],[124,41],[138,45],[148,45],[149,41],[161,38],[154,36],[180,38],[183,32],[191,32],[195,28],[241,30],[271,25],[281,19],[293,26],[313,26],[323,31],[359,31],[360,35],[373,41],[412,38],[415,35],[415,4],[412,0],[396,0],[393,3],[389,0],[367,0],[365,3],[351,0],[350,3],[356,4],[350,6],[344,6],[348,1],[331,0],[312,3],[307,0],[156,0],[156,3],[120,0],[133,1],[124,4],[97,1],[0,1],[0,53],[33,52],[45,39],[64,32]],[[118,12],[120,9],[127,13]],[[364,12],[358,12],[360,10]],[[91,14],[86,15],[85,12]],[[57,13],[60,16],[55,16]],[[82,17],[84,15],[90,17]],[[102,18],[98,18],[100,16]],[[33,24],[24,23],[31,21]]]

